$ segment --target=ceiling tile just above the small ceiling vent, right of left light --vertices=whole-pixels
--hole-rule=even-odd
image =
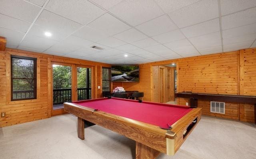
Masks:
[[[101,31],[96,31],[96,30],[94,30],[90,27],[86,27],[86,26],[82,27],[81,29],[79,29],[78,31],[73,33],[72,35],[75,35],[77,37],[81,37],[83,39],[87,39],[90,41],[95,41],[95,42],[109,36]]]

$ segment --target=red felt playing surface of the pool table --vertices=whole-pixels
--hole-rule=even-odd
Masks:
[[[168,128],[192,108],[155,102],[138,102],[122,98],[99,98],[73,102],[98,111],[115,114],[147,124]]]

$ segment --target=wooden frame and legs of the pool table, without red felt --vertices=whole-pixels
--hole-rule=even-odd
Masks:
[[[136,141],[136,159],[155,159],[160,152],[174,155],[201,119],[201,108],[194,108],[175,122],[171,130],[164,130],[158,126],[95,111],[72,102],[64,103],[64,110],[78,117],[78,137],[80,139],[84,139],[84,120],[87,120]],[[196,124],[183,137],[184,131],[196,118]]]

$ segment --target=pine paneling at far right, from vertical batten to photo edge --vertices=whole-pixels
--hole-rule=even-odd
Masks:
[[[240,50],[240,94],[256,96],[256,49]],[[254,106],[240,104],[240,120],[254,122]]]

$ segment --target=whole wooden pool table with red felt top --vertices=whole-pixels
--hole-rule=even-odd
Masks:
[[[78,117],[80,139],[87,120],[136,141],[136,159],[174,155],[201,118],[201,108],[113,97],[65,102],[64,109]]]

